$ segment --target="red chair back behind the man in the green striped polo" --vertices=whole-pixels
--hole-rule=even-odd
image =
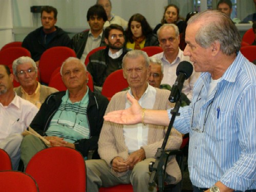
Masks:
[[[88,83],[87,86],[89,87],[89,89],[93,92],[94,91],[94,87],[93,87],[93,78],[91,76],[91,74],[88,72]],[[67,87],[65,86],[65,84],[62,81],[61,75],[60,75],[60,67],[57,68],[50,79],[49,82],[49,87],[55,88],[59,91],[66,91]]]

